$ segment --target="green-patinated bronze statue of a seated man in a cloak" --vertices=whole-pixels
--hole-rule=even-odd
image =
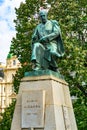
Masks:
[[[41,23],[32,36],[33,70],[50,69],[57,71],[56,60],[64,55],[61,30],[56,20],[48,20],[47,12],[39,12]]]

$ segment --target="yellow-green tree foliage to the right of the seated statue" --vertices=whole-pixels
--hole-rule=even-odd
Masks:
[[[50,0],[50,2],[52,1]],[[65,56],[58,61],[59,69],[70,86],[79,88],[87,96],[87,41],[85,33],[87,16],[85,1],[56,0],[49,16],[52,19],[57,19],[62,29]]]

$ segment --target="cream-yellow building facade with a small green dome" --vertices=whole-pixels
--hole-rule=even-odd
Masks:
[[[16,98],[13,77],[19,67],[21,67],[20,62],[12,54],[8,54],[6,65],[0,64],[0,113],[4,112],[4,109]]]

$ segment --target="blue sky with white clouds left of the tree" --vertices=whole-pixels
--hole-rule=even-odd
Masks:
[[[15,7],[25,0],[0,0],[0,62],[6,63],[11,40],[15,37]]]

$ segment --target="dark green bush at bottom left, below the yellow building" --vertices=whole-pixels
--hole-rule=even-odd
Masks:
[[[0,120],[0,130],[10,130],[14,113],[14,106],[15,102],[10,104],[10,106],[5,109],[5,112],[1,114],[2,118]]]

